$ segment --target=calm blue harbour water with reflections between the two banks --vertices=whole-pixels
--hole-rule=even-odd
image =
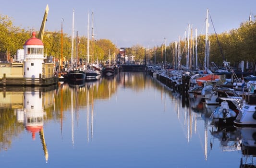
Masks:
[[[182,98],[144,72],[82,85],[0,90],[1,168],[240,167],[243,136],[217,106]]]

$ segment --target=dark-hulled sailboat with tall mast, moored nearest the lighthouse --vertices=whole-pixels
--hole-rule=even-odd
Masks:
[[[77,67],[77,61],[73,62],[74,47],[74,9],[73,9],[73,25],[72,25],[72,49],[71,49],[71,67],[68,70],[68,80],[71,83],[85,82],[85,70],[83,67]],[[74,65],[75,63],[75,65]]]

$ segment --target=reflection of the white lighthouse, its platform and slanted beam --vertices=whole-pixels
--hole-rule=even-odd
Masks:
[[[36,140],[37,136],[43,147],[46,162],[49,154],[44,136],[44,120],[47,117],[46,108],[53,106],[54,91],[29,88],[23,92],[4,90],[1,94],[1,106],[14,110],[18,123]]]

